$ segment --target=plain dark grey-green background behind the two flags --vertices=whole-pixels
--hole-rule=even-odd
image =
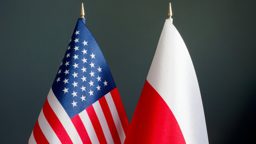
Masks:
[[[86,0],[86,24],[129,121],[167,18],[168,0]],[[196,69],[209,142],[256,136],[255,0],[172,0],[173,24]],[[0,139],[26,143],[80,12],[80,0],[0,4]]]

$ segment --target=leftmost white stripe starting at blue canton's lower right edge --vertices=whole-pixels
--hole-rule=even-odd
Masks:
[[[89,136],[92,144],[99,144],[99,140],[98,140],[96,132],[93,128],[93,124],[92,124],[86,110],[83,110],[83,112],[79,113],[79,116],[85,126],[85,129],[88,133],[88,136]]]

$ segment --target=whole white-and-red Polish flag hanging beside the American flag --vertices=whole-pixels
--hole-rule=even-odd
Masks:
[[[125,144],[208,144],[196,72],[171,18],[163,26]]]

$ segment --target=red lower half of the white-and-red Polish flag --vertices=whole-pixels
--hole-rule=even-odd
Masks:
[[[185,144],[169,106],[146,81],[125,144]]]

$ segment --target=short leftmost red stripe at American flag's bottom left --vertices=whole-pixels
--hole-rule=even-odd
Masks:
[[[42,130],[38,124],[38,120],[36,121],[33,134],[37,144],[49,144],[48,140],[45,138],[44,134],[42,133]]]

